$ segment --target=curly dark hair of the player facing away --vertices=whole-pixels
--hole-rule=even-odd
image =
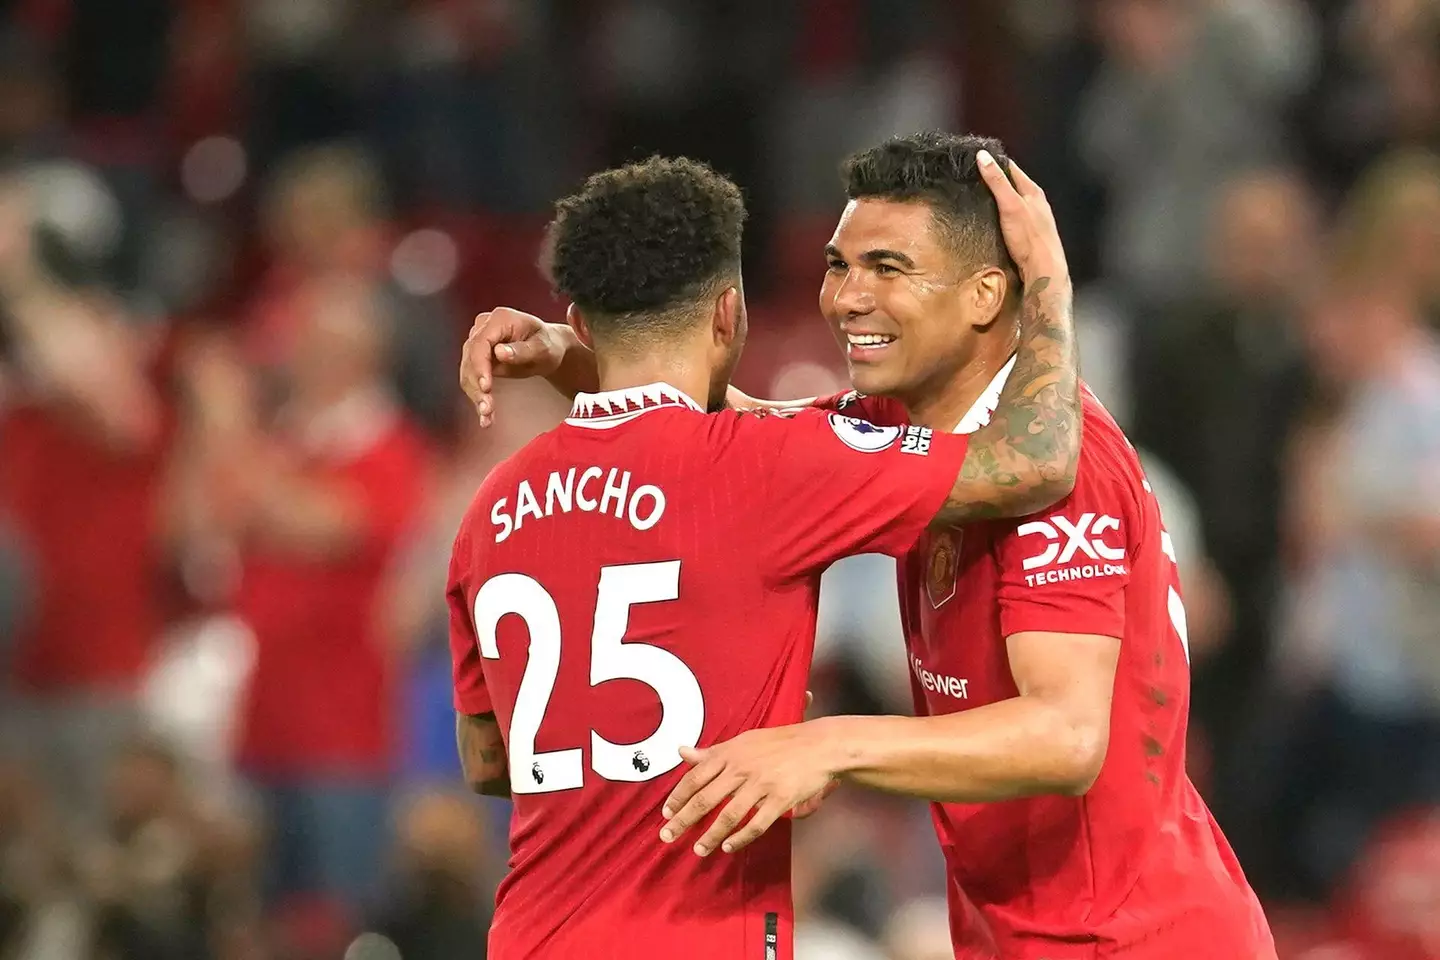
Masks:
[[[703,163],[651,157],[606,170],[554,210],[552,282],[602,338],[674,332],[740,273],[744,200]]]

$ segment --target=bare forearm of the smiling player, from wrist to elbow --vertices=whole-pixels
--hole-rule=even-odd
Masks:
[[[834,751],[834,776],[940,803],[988,803],[1090,787],[1104,737],[1034,697],[943,717],[811,721]]]

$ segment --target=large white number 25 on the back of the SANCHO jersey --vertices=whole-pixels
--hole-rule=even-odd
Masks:
[[[680,561],[634,563],[600,569],[590,633],[590,685],[609,679],[635,679],[660,695],[660,727],[639,743],[615,744],[590,731],[590,769],[606,780],[654,780],[680,766],[680,747],[694,747],[706,723],[700,681],[684,661],[648,643],[626,643],[629,609],[680,597]],[[475,594],[475,633],[480,653],[500,659],[495,626],[514,613],[530,632],[530,656],[520,676],[516,708],[510,717],[510,792],[552,793],[585,786],[579,747],[536,753],[536,735],[544,723],[560,671],[560,610],[533,577],[503,573]]]

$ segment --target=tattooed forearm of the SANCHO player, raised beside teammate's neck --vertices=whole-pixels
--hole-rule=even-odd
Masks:
[[[1030,285],[1020,340],[995,416],[971,436],[939,522],[1024,517],[1074,488],[1080,373],[1068,281],[1053,285],[1043,276]]]

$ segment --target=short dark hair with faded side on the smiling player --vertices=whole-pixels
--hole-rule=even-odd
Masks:
[[[950,248],[971,263],[1014,271],[999,232],[995,197],[981,180],[975,154],[989,151],[1009,170],[1005,145],[992,137],[926,131],[890,140],[845,158],[841,176],[851,200],[926,203]]]

